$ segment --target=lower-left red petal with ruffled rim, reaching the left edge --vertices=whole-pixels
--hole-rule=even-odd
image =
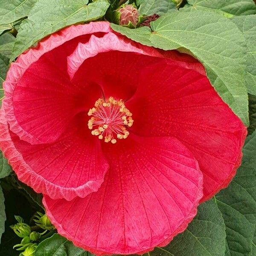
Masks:
[[[0,148],[19,180],[54,199],[72,200],[99,189],[109,166],[81,115],[55,143],[31,145],[9,130],[1,109]]]

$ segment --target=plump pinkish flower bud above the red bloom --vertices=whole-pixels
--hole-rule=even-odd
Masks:
[[[129,28],[136,28],[143,20],[134,4],[123,4],[113,12],[113,17],[116,24]]]

